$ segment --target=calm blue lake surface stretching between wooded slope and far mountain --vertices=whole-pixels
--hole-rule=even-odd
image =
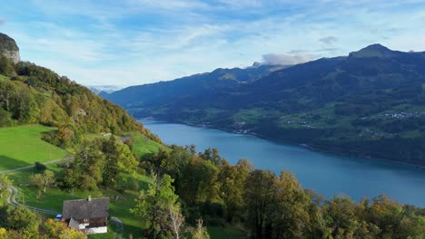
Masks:
[[[254,136],[233,134],[182,124],[143,120],[166,144],[218,148],[220,155],[235,164],[248,158],[257,168],[279,174],[290,170],[302,186],[327,198],[386,194],[403,204],[425,206],[425,170],[385,160],[350,158],[324,154],[291,145],[279,144]]]

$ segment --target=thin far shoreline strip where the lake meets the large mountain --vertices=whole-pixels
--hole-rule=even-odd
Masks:
[[[318,153],[333,154],[333,155],[338,155],[338,156],[343,156],[343,157],[348,157],[348,158],[353,157],[353,158],[361,158],[361,159],[379,160],[379,161],[382,161],[382,162],[396,163],[396,164],[400,164],[400,165],[404,165],[404,166],[416,167],[416,168],[418,168],[420,170],[424,170],[425,169],[425,166],[420,166],[420,165],[412,164],[412,163],[408,163],[408,162],[391,160],[391,159],[388,159],[388,158],[371,158],[371,157],[362,156],[362,155],[343,154],[341,152],[333,151],[333,150],[329,150],[329,149],[313,148],[313,147],[311,147],[308,144],[295,144],[295,143],[293,143],[291,141],[273,139],[271,137],[267,137],[267,136],[264,136],[262,134],[258,134],[258,133],[254,133],[254,132],[243,133],[243,132],[240,132],[240,131],[234,130],[234,129],[227,129],[227,128],[222,128],[222,127],[213,127],[212,125],[205,124],[205,123],[203,123],[203,124],[195,124],[195,123],[185,122],[185,121],[181,121],[181,120],[154,119],[153,117],[142,118],[142,119],[137,119],[137,120],[140,120],[140,121],[142,121],[142,120],[151,120],[151,121],[156,121],[156,122],[183,124],[183,125],[186,125],[186,126],[197,127],[197,128],[204,128],[204,129],[217,129],[217,130],[222,130],[222,131],[227,132],[227,133],[233,133],[233,134],[239,134],[239,135],[249,135],[249,136],[257,137],[259,139],[269,140],[269,141],[272,141],[273,143],[277,143],[277,144],[286,144],[286,145],[289,145],[289,146],[306,148],[308,150],[311,150],[311,151],[314,151],[314,152],[318,152]]]

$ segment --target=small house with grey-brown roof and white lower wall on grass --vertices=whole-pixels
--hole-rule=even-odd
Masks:
[[[62,221],[85,234],[104,234],[108,231],[109,198],[100,197],[64,201]]]

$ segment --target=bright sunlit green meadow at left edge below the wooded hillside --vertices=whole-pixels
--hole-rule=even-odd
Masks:
[[[64,158],[64,149],[41,139],[43,132],[53,129],[41,125],[0,128],[0,171]]]

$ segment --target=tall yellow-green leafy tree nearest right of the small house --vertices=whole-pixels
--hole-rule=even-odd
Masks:
[[[147,225],[150,238],[171,237],[175,234],[170,228],[170,207],[177,210],[178,196],[174,194],[173,178],[169,175],[163,177],[153,176],[152,183],[147,190],[140,192],[135,200],[136,206],[130,211],[142,218]]]

